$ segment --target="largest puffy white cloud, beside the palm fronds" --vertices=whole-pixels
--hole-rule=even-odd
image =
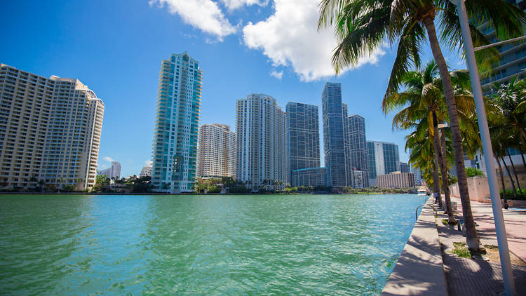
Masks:
[[[260,49],[274,66],[292,66],[302,81],[335,74],[332,51],[337,46],[332,29],[318,32],[319,0],[274,0],[276,11],[267,20],[243,27],[248,48]],[[364,57],[356,67],[375,64],[384,55],[381,48]],[[349,69],[343,69],[343,72]]]

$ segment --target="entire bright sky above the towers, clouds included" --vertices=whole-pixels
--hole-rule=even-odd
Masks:
[[[321,112],[323,86],[336,81],[349,114],[365,117],[367,140],[395,142],[407,161],[409,132],[392,130],[393,114],[382,113],[396,45],[335,76],[330,58],[337,43],[332,29],[316,29],[318,2],[0,1],[0,63],[76,78],[93,90],[104,102],[98,166],[119,161],[121,176],[138,175],[151,159],[161,61],[184,51],[203,70],[200,124],[234,129],[236,100],[250,93],[271,95],[283,109],[304,102]],[[431,59],[428,45],[423,54]],[[465,67],[456,53],[445,58],[450,67]],[[323,140],[321,147],[323,157]]]

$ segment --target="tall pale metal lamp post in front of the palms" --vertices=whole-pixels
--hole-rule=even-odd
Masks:
[[[490,185],[493,218],[495,222],[495,231],[497,232],[497,243],[499,244],[502,276],[504,278],[504,294],[506,296],[513,296],[515,294],[515,283],[513,282],[513,273],[511,271],[510,252],[508,249],[508,241],[506,240],[506,227],[504,227],[504,215],[502,214],[501,198],[497,184],[497,173],[495,173],[490,130],[487,127],[482,87],[480,86],[480,80],[478,78],[478,68],[475,60],[475,51],[473,50],[473,41],[471,40],[471,33],[469,32],[468,14],[466,13],[464,0],[450,0],[450,2],[457,6],[462,37],[464,38],[464,51],[466,54],[466,61],[468,62],[473,97],[475,98],[478,129],[480,130],[480,140],[482,140],[484,161],[487,168],[487,181]]]

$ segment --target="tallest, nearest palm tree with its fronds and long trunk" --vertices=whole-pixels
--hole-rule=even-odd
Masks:
[[[433,58],[442,77],[447,102],[466,225],[466,243],[468,248],[478,251],[478,235],[469,201],[457,105],[435,27],[437,20],[440,39],[447,48],[461,51],[462,38],[457,7],[449,0],[322,0],[320,5],[318,27],[335,24],[335,35],[339,45],[332,56],[332,65],[337,73],[343,67],[357,65],[363,55],[372,53],[384,41],[390,44],[398,41],[386,95],[396,93],[400,79],[407,73],[411,64],[420,67],[420,53],[427,35]],[[526,22],[526,14],[504,0],[466,0],[466,10],[473,20],[490,21],[496,28],[497,36],[501,38],[506,35],[522,35],[521,22]],[[490,43],[475,25],[470,25],[470,31],[473,45]],[[480,51],[478,54],[479,62],[492,62],[496,57],[498,58],[498,51],[495,48]],[[485,66],[487,65],[485,63]]]

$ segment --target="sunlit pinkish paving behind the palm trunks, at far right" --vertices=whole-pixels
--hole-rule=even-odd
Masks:
[[[452,198],[457,202],[458,213],[462,215],[460,199]],[[471,201],[473,219],[478,224],[477,231],[480,240],[486,245],[497,245],[497,234],[493,220],[493,211],[490,203],[479,203]],[[506,224],[506,236],[510,251],[526,262],[526,209],[508,208],[504,213],[504,224]],[[486,241],[486,242],[484,242]]]

